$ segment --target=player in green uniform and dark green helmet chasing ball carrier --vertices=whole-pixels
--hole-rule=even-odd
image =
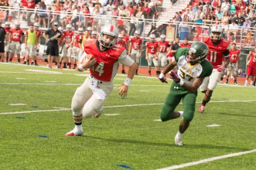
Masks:
[[[178,117],[183,117],[179,130],[175,136],[175,144],[183,145],[182,135],[192,121],[195,108],[197,88],[203,83],[204,78],[212,74],[212,65],[205,59],[208,54],[208,47],[204,42],[195,42],[191,48],[177,49],[172,61],[164,68],[159,75],[163,83],[167,83],[164,77],[177,65],[177,73],[172,70],[170,75],[174,80],[170,92],[164,101],[161,111],[161,120],[168,121]],[[180,101],[183,101],[184,111],[174,111]]]

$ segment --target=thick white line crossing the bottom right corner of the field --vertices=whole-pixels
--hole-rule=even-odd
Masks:
[[[190,167],[190,166],[193,166],[193,165],[212,162],[212,161],[218,160],[218,159],[225,159],[225,158],[230,158],[230,157],[233,157],[233,156],[250,154],[250,153],[253,153],[253,152],[256,152],[256,149],[249,150],[249,151],[236,152],[236,153],[233,153],[233,154],[227,154],[227,155],[222,155],[222,156],[215,156],[215,157],[212,157],[212,158],[201,159],[201,160],[198,160],[198,161],[195,161],[195,162],[189,162],[189,163],[180,164],[180,165],[172,165],[170,167],[161,168],[161,169],[157,169],[157,170],[168,170],[168,169],[179,169],[179,168],[184,168],[184,167]]]

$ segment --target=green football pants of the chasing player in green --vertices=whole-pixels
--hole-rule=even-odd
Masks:
[[[185,91],[181,87],[171,86],[166,101],[164,101],[164,105],[161,112],[161,120],[170,120],[172,118],[172,114],[174,113],[175,108],[182,99],[184,109],[183,118],[185,121],[191,121],[195,113],[196,96],[197,91],[191,94],[190,92]]]

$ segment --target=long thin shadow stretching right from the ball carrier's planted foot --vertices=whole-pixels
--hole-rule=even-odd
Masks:
[[[88,135],[83,135],[81,137],[97,139],[107,142],[115,142],[115,143],[131,143],[136,145],[152,145],[152,146],[168,146],[168,147],[182,147],[182,148],[210,148],[216,150],[247,150],[247,148],[240,147],[230,147],[230,146],[217,146],[217,145],[184,145],[184,146],[176,146],[174,143],[156,143],[156,142],[147,142],[147,141],[135,141],[131,139],[115,139],[115,138],[100,138],[100,137],[90,137]]]

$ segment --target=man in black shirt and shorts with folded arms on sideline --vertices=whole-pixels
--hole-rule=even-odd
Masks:
[[[61,38],[61,32],[57,29],[58,23],[55,22],[53,24],[53,28],[49,29],[43,34],[44,39],[46,39],[47,42],[47,59],[48,59],[48,67],[52,68],[52,57],[55,58],[55,61],[57,62],[57,67],[60,68],[60,58],[59,58],[59,45],[58,41],[60,41]]]

